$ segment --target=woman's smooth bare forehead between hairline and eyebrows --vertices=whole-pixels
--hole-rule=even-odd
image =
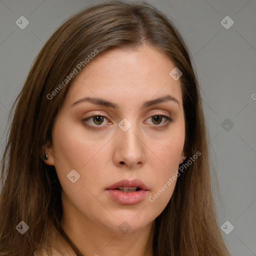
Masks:
[[[164,53],[146,45],[107,50],[81,70],[67,100],[99,96],[112,101],[144,101],[168,93],[181,103],[180,82],[169,75],[174,67]]]

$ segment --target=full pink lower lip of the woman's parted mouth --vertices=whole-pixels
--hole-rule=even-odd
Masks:
[[[136,204],[145,197],[148,191],[141,189],[139,191],[126,193],[117,189],[107,189],[106,192],[115,202],[120,204]]]

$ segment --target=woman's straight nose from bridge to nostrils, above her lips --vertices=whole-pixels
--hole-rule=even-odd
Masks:
[[[140,129],[133,123],[126,131],[117,127],[113,155],[115,165],[126,165],[129,169],[137,169],[143,165],[145,144],[141,134]]]

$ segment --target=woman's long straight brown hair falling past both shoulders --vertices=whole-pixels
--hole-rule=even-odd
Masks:
[[[30,256],[35,248],[48,247],[52,223],[64,236],[61,186],[54,166],[41,159],[42,146],[51,141],[54,118],[80,71],[77,64],[86,68],[84,59],[95,50],[99,55],[142,43],[163,52],[182,71],[186,159],[201,153],[179,175],[171,199],[155,219],[153,255],[230,255],[216,221],[208,135],[189,51],[173,23],[152,5],[120,1],[92,5],[66,20],[40,50],[11,108],[1,161],[0,255]],[[77,74],[65,80],[74,68]],[[29,226],[24,234],[15,229],[21,220]]]

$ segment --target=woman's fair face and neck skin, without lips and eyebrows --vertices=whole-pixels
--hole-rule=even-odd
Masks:
[[[115,48],[94,57],[68,90],[55,119],[52,144],[44,151],[63,188],[63,229],[83,255],[152,255],[154,219],[167,205],[176,181],[154,202],[149,196],[175,174],[184,156],[181,87],[169,75],[174,67],[163,53],[146,45]],[[166,94],[180,105],[165,101],[140,109],[144,101]],[[85,96],[104,98],[118,108],[90,102],[72,106]],[[165,118],[154,121],[151,116],[159,112],[173,121],[165,127]],[[106,116],[87,120],[88,125],[101,125],[99,129],[82,121],[93,114]],[[118,127],[123,118],[131,123],[127,131]],[[67,178],[72,169],[80,174],[74,183]],[[107,195],[105,188],[124,178],[138,178],[148,186],[142,201],[122,205]],[[124,220],[130,226],[125,234],[118,229]]]

